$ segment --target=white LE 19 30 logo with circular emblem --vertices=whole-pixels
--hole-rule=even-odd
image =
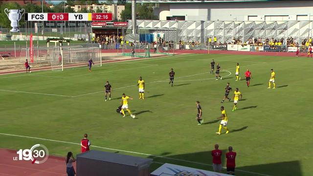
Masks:
[[[48,159],[49,151],[44,145],[36,144],[30,149],[20,149],[16,154],[18,154],[18,156],[14,156],[13,160],[25,160],[31,161],[32,164],[42,164]]]

